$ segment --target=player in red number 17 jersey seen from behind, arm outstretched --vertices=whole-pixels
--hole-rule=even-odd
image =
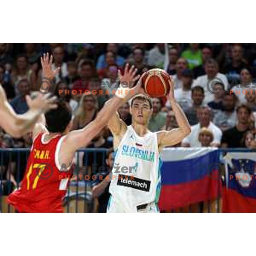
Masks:
[[[55,74],[45,57],[42,66],[44,76],[52,79]],[[134,67],[129,69],[126,65],[124,75],[119,73],[120,82],[134,83],[139,78],[136,72]],[[141,91],[140,87],[141,82],[132,89],[119,87],[118,93],[105,103],[96,119],[77,131],[68,132],[72,115],[65,104],[58,102],[58,108],[45,114],[46,126],[38,122],[33,129],[33,145],[25,175],[20,189],[9,195],[8,203],[18,212],[62,212],[62,198],[72,175],[76,150],[90,143],[119,106]]]

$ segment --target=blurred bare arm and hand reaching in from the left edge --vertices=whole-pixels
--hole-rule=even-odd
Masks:
[[[59,68],[52,72],[56,74],[58,71]],[[31,130],[42,113],[57,107],[54,103],[55,99],[56,97],[50,98],[50,94],[38,93],[38,96],[34,99],[27,95],[26,101],[29,111],[22,115],[17,115],[7,101],[6,93],[0,84],[0,127],[13,137],[23,136]]]

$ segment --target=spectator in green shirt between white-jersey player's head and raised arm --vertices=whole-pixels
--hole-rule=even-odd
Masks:
[[[166,123],[166,113],[161,111],[161,100],[152,99],[153,112],[148,122],[148,129],[152,132],[160,131]]]

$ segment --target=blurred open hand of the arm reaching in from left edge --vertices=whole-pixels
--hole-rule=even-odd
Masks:
[[[51,96],[50,93],[37,93],[37,96],[33,99],[29,95],[26,96],[29,109],[42,113],[47,112],[50,109],[57,108],[56,99],[57,97]]]

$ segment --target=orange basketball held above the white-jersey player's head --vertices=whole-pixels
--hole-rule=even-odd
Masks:
[[[142,79],[145,92],[152,98],[166,96],[170,91],[170,82],[169,74],[160,68],[148,70]]]

